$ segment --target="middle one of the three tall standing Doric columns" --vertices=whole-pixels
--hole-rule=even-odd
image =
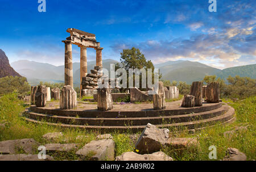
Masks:
[[[82,90],[82,77],[87,75],[86,47],[80,46],[80,91]]]

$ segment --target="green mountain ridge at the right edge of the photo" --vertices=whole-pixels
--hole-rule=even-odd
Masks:
[[[217,77],[226,79],[229,75],[232,77],[236,75],[239,75],[241,77],[247,76],[256,79],[256,64],[225,68],[224,70],[218,72]]]

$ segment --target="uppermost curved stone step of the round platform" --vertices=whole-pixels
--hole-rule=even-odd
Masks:
[[[145,105],[146,106],[146,105]],[[86,118],[137,118],[137,117],[161,117],[170,115],[182,115],[191,113],[201,113],[204,111],[214,110],[221,108],[222,102],[216,104],[204,104],[203,106],[197,106],[193,108],[181,108],[178,105],[170,106],[169,109],[153,110],[153,109],[138,109],[135,110],[136,105],[131,107],[131,110],[123,110],[114,108],[110,111],[99,111],[97,109],[76,109],[76,110],[61,110],[50,108],[36,108],[31,106],[31,111],[40,114],[57,115],[63,117],[86,117]],[[97,105],[96,105],[97,107]],[[134,108],[134,109],[133,109]]]

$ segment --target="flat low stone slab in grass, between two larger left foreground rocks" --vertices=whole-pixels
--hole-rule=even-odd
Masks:
[[[70,143],[70,144],[59,144],[59,143],[52,143],[44,145],[46,147],[47,152],[69,152],[75,151],[77,149],[77,144]]]

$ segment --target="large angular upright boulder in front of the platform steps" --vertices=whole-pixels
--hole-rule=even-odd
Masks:
[[[148,123],[135,144],[135,149],[140,154],[158,152],[167,143],[169,132],[167,128],[159,129]]]

